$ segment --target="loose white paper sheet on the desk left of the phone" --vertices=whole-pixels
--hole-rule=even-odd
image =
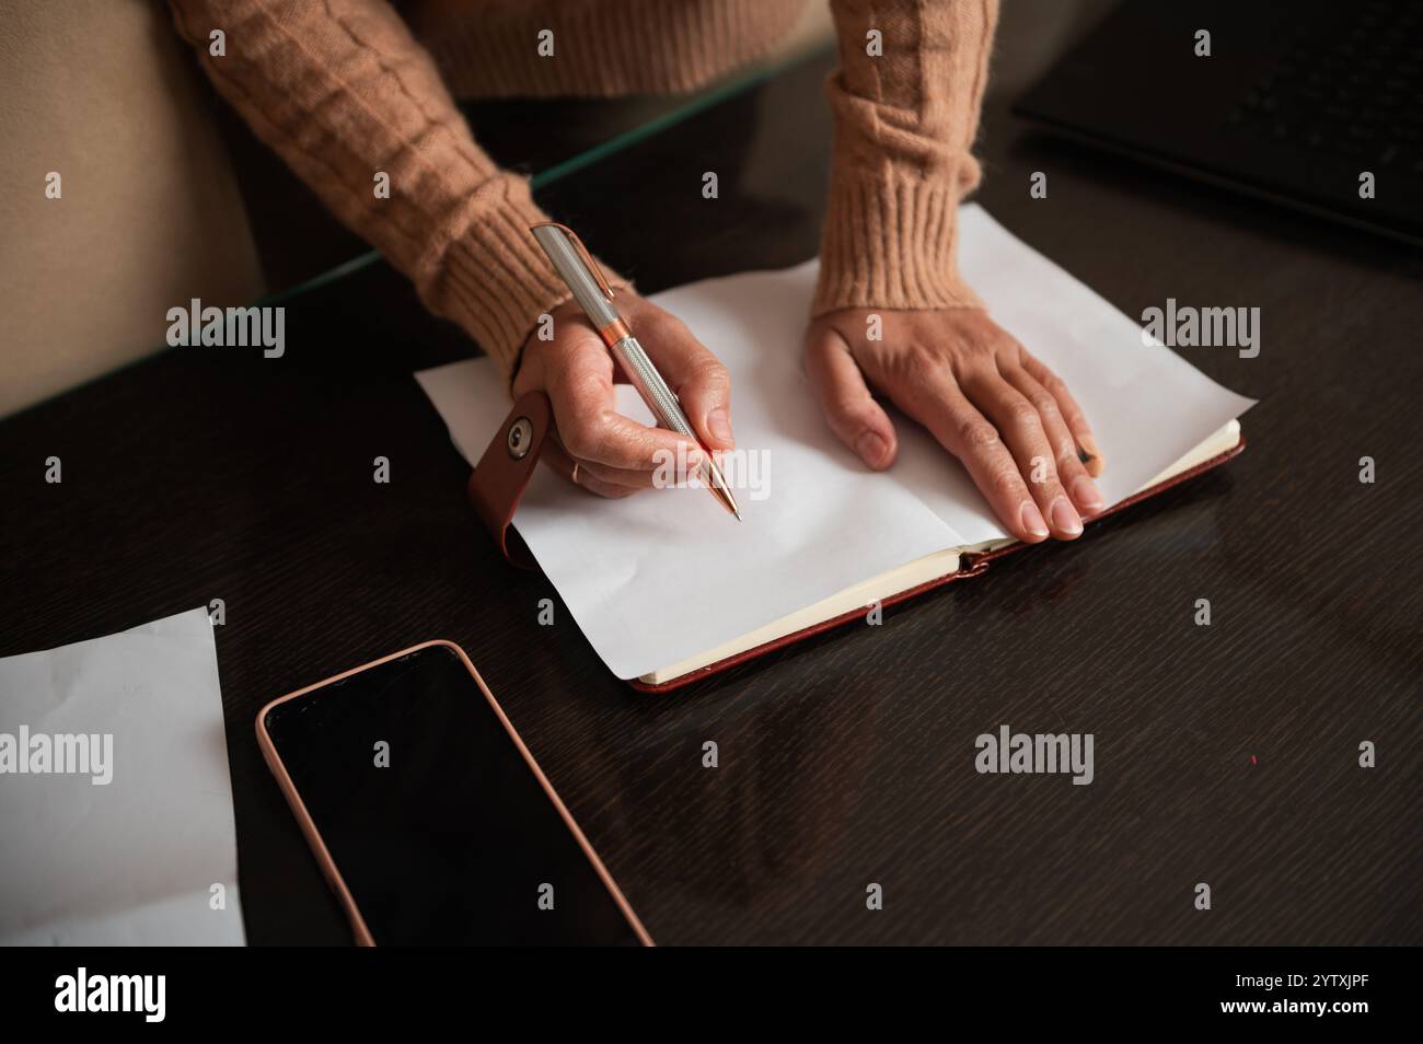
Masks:
[[[0,943],[243,943],[206,610],[0,660],[0,734],[21,727],[31,742],[111,735],[112,765],[107,784],[0,774]],[[212,909],[213,885],[226,909]]]

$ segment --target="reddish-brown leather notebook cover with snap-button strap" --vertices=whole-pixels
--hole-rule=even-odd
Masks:
[[[474,509],[480,515],[485,528],[494,536],[499,550],[504,552],[504,556],[522,569],[538,569],[538,563],[534,560],[534,556],[529,553],[528,546],[525,546],[518,532],[514,529],[514,512],[518,511],[519,498],[524,495],[524,489],[528,486],[529,479],[534,475],[534,468],[538,467],[539,449],[548,438],[551,420],[552,410],[549,408],[548,397],[544,393],[531,391],[527,395],[522,395],[514,404],[509,415],[504,418],[504,424],[499,425],[499,432],[490,442],[490,447],[484,451],[484,457],[480,458],[480,462],[474,467],[474,472],[470,475],[470,502],[474,505]],[[1127,499],[1107,508],[1107,511],[1097,515],[1087,525],[1093,525],[1099,519],[1114,515],[1124,508],[1130,508],[1133,504],[1138,504],[1148,496],[1155,496],[1164,489],[1170,489],[1174,485],[1192,479],[1211,468],[1218,468],[1232,457],[1239,455],[1244,449],[1245,438],[1242,435],[1241,441],[1225,452],[1217,454],[1215,457],[1197,464],[1194,468],[1188,468],[1187,471],[1173,475],[1163,482],[1147,486],[1138,494],[1133,494]],[[881,604],[898,604],[901,602],[908,602],[912,597],[918,597],[925,592],[942,587],[946,583],[952,583],[953,580],[980,576],[988,570],[989,563],[993,559],[1012,555],[1013,552],[1022,550],[1027,546],[1032,545],[1010,543],[1005,548],[985,552],[982,555],[963,555],[961,568],[956,572],[946,573],[938,579],[902,590],[898,595],[881,599]],[[785,646],[801,641],[803,639],[808,639],[814,634],[822,634],[827,630],[861,620],[864,619],[864,607],[852,609],[848,613],[841,613],[840,616],[834,616],[828,620],[821,620],[810,627],[778,637],[774,641],[767,641],[756,646],[754,649],[747,649],[736,656],[729,656],[724,660],[717,660],[706,667],[699,667],[694,671],[655,686],[636,678],[628,684],[642,693],[670,693],[675,688],[682,688],[693,681],[710,677],[712,674],[724,671],[729,667],[747,663],[758,656],[766,656],[777,649],[784,649]]]

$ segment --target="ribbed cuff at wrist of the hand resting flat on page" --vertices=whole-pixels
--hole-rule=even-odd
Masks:
[[[959,277],[953,178],[831,176],[811,314],[835,309],[980,309]]]

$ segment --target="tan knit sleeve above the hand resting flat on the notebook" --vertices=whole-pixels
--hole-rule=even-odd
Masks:
[[[834,166],[813,313],[982,307],[955,259],[998,0],[831,0]],[[874,54],[879,33],[882,54]]]

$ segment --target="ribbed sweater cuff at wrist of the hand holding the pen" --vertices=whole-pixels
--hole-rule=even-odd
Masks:
[[[514,377],[538,317],[572,297],[529,233],[541,220],[548,216],[527,192],[509,192],[450,245],[438,280],[437,310],[460,323],[507,378]],[[598,265],[613,289],[630,287],[601,260]]]

